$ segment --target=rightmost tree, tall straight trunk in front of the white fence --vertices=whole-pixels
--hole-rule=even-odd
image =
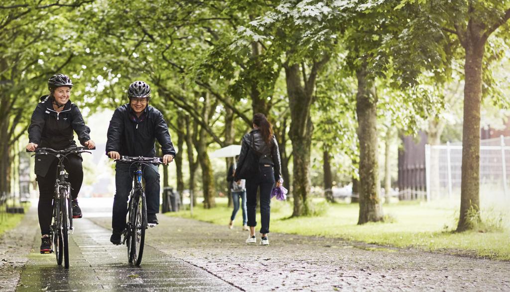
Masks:
[[[439,53],[454,52],[460,44],[464,59],[464,123],[462,149],[461,208],[457,231],[472,228],[473,220],[479,220],[479,157],[480,157],[480,103],[484,68],[490,61],[486,56],[489,37],[497,35],[507,40],[510,32],[510,1],[402,1],[399,7],[419,6],[420,13],[428,19],[419,25],[437,36],[450,40],[452,46]],[[454,15],[454,17],[451,17]],[[449,34],[449,35],[444,35]],[[435,48],[435,46],[432,46]],[[492,59],[497,59],[497,46],[489,47]],[[486,73],[489,73],[485,71]],[[486,75],[487,76],[487,75]],[[470,217],[472,216],[472,217]]]

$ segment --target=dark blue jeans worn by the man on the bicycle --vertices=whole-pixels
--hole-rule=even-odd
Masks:
[[[121,232],[126,226],[127,201],[133,189],[133,172],[136,165],[117,162],[115,165],[115,196],[113,198],[112,228]],[[160,175],[158,167],[154,164],[142,166],[145,180],[145,199],[147,201],[147,214],[159,213]]]

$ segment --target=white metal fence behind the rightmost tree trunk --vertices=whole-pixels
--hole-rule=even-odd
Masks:
[[[461,194],[462,144],[425,145],[427,201]],[[510,196],[510,137],[480,141],[480,197]]]

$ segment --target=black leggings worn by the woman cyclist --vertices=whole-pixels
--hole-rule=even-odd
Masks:
[[[45,177],[37,176],[39,185],[39,226],[41,235],[49,235],[49,226],[52,224],[53,216],[53,196],[55,194],[55,181],[57,180],[57,166],[59,160],[55,158],[49,166]],[[71,196],[73,199],[78,197],[83,182],[82,159],[77,155],[68,155],[64,159],[64,168],[69,173],[68,182],[71,183]]]

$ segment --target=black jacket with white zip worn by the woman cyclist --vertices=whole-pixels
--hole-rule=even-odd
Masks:
[[[36,143],[38,147],[63,150],[76,145],[73,130],[82,145],[90,140],[90,128],[85,125],[77,105],[69,100],[62,111],[57,112],[53,109],[52,99],[43,96],[41,100],[32,113],[29,142]],[[35,173],[45,177],[54,159],[51,155],[36,155]]]

